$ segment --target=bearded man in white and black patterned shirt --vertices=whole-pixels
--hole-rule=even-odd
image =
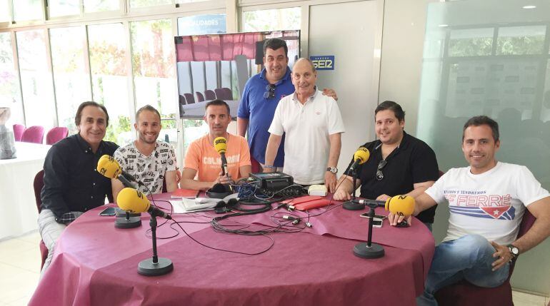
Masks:
[[[134,128],[138,132],[137,140],[118,148],[114,153],[122,170],[143,183],[138,189],[145,194],[162,193],[163,180],[166,180],[168,192],[176,190],[176,153],[169,143],[156,140],[161,131],[159,111],[150,105],[139,108]],[[117,179],[112,180],[112,185],[116,200],[124,185]]]

